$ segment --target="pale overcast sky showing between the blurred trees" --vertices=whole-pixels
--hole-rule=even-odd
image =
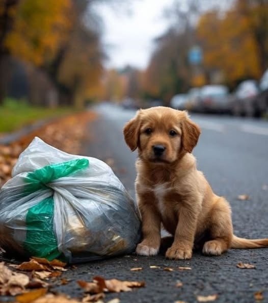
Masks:
[[[126,64],[145,68],[153,42],[163,34],[168,21],[163,10],[172,0],[135,0],[127,14],[124,9],[116,10],[108,5],[98,5],[96,11],[104,21],[103,42],[110,60],[107,67],[123,67]]]

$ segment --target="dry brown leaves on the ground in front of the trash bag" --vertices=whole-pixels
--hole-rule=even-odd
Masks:
[[[0,263],[0,295],[5,301],[18,303],[78,303],[102,302],[105,292],[131,291],[133,287],[144,287],[144,282],[105,280],[96,276],[92,282],[77,281],[84,290],[79,299],[69,298],[65,294],[57,294],[52,287],[68,284],[61,279],[61,274],[67,269],[65,263],[59,260],[51,262],[42,258],[31,258],[29,262],[20,265]],[[12,268],[15,269],[12,270]],[[118,300],[117,300],[118,301]],[[114,301],[115,302],[115,301]]]

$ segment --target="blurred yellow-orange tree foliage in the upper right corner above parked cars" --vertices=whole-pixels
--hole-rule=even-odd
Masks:
[[[204,68],[222,70],[231,86],[245,78],[259,79],[268,67],[268,4],[262,0],[237,0],[224,15],[205,13],[197,35]]]

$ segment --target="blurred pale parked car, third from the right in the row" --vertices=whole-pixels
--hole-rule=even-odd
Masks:
[[[201,113],[228,113],[229,90],[224,85],[205,85],[200,89],[196,109]]]

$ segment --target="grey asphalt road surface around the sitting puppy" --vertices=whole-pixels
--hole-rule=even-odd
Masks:
[[[99,118],[89,125],[90,144],[85,142],[85,155],[108,162],[134,197],[136,153],[126,147],[122,128],[135,111],[113,105],[95,108]],[[202,134],[194,155],[213,190],[225,196],[232,207],[234,232],[248,238],[268,237],[268,123],[253,119],[193,114]],[[247,194],[250,200],[238,200]],[[238,262],[250,263],[255,269],[239,269]],[[150,268],[150,265],[160,268]],[[179,270],[178,267],[192,270]],[[130,271],[142,267],[140,271]],[[164,271],[164,267],[174,271]],[[198,295],[217,294],[215,302],[252,303],[254,293],[262,291],[262,302],[268,302],[268,248],[234,250],[219,257],[194,253],[191,260],[171,261],[164,255],[123,256],[78,265],[67,272],[72,279],[90,280],[94,275],[123,280],[145,281],[146,287],[130,293],[110,294],[121,302],[197,302]],[[177,281],[183,286],[176,287]],[[79,295],[75,284],[63,287],[64,292]]]

